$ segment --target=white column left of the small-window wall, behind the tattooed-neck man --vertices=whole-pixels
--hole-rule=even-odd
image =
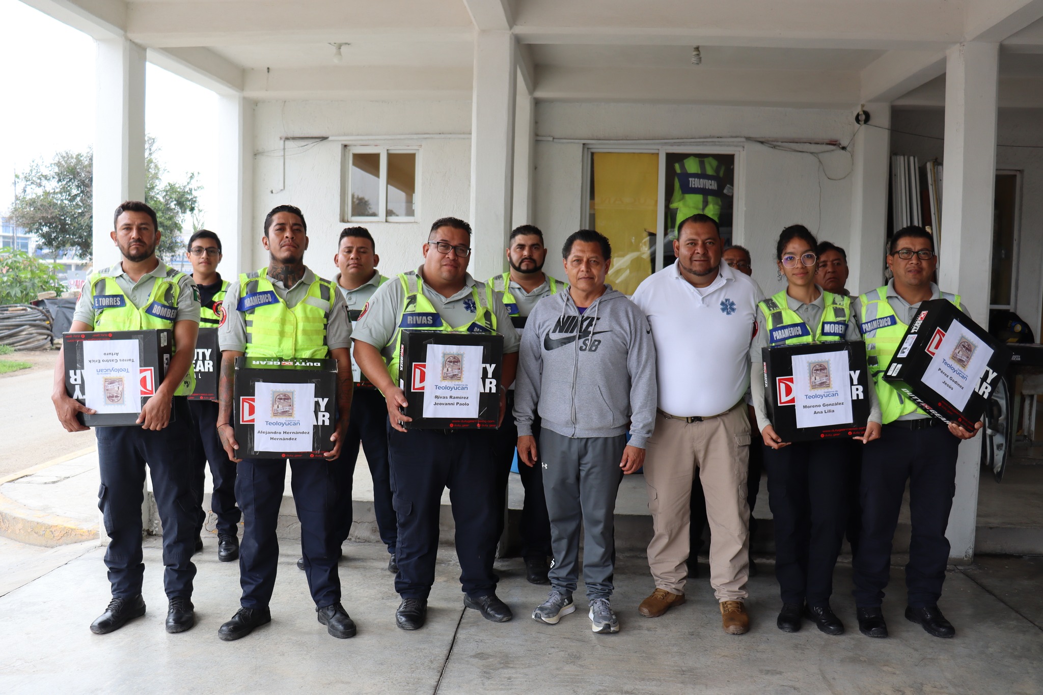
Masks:
[[[219,95],[218,190],[220,204],[213,227],[221,237],[221,268],[228,280],[256,270],[253,210],[253,101],[242,95]]]

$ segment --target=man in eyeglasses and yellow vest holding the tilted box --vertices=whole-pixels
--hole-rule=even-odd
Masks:
[[[880,439],[863,448],[862,535],[853,564],[858,629],[867,637],[888,637],[880,605],[890,578],[891,542],[906,481],[913,540],[905,566],[905,618],[935,637],[955,634],[938,609],[949,559],[945,528],[955,492],[960,442],[973,438],[983,425],[976,423],[970,432],[956,424],[946,427],[883,380],[921,302],[944,298],[963,308],[959,295],[941,292],[931,282],[937,266],[930,232],[916,226],[900,229],[888,250],[888,268],[894,279],[862,295],[855,303],[883,416]]]

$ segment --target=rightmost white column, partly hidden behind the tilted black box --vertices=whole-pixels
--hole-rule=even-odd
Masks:
[[[985,43],[953,46],[946,58],[939,284],[962,295],[964,311],[981,325],[989,319],[998,59],[999,46]],[[946,531],[956,562],[974,556],[980,449],[979,438],[960,446]]]

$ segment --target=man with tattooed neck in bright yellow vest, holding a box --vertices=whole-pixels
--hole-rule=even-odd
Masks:
[[[333,532],[336,491],[331,466],[338,465],[351,411],[351,324],[336,286],[305,266],[308,225],[300,209],[293,205],[272,208],[265,218],[261,243],[268,251],[268,267],[244,273],[232,283],[218,329],[222,361],[217,430],[228,457],[239,464],[236,499],[244,525],[239,560],[242,607],[221,625],[218,637],[238,640],[271,621],[268,604],[278,564],[275,526],[287,460],[240,458],[232,424],[235,362],[248,355],[337,361],[337,422],[330,438],[334,447],[324,458],[289,462],[305,574],[318,621],[333,637],[349,638],[356,627],[340,603],[340,548]]]

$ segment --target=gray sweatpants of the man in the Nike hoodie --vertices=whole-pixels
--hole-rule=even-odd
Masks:
[[[551,586],[572,596],[579,579],[583,525],[583,582],[587,598],[612,595],[615,565],[615,495],[623,480],[620,460],[627,436],[571,438],[543,427],[543,494],[551,518],[554,567]]]

